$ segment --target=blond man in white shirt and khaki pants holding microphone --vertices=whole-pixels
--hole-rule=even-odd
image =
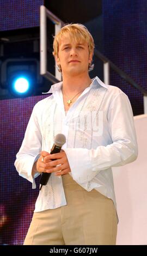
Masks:
[[[24,245],[115,245],[111,167],[137,157],[130,101],[119,88],[90,79],[94,41],[83,25],[64,26],[53,49],[63,82],[34,106],[15,161],[33,187],[36,176],[51,173]],[[50,154],[58,133],[66,143],[60,153]]]

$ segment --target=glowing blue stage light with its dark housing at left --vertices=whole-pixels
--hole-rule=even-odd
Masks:
[[[44,89],[40,89],[44,81],[39,70],[40,63],[35,58],[4,60],[0,69],[0,91],[1,87],[4,89],[4,93],[7,90],[8,98],[28,97],[38,95],[38,92],[44,92]]]

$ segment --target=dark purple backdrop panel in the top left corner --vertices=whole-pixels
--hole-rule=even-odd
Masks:
[[[0,0],[0,31],[39,26],[43,0]]]

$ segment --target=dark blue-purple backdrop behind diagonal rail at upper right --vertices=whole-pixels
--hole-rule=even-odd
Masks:
[[[103,0],[104,53],[147,90],[146,0]],[[112,70],[111,70],[112,71]],[[143,95],[111,72],[111,84],[129,97],[134,115],[143,114]]]

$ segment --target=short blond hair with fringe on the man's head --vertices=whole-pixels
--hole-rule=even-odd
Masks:
[[[62,39],[62,36],[68,35],[71,41],[76,41],[77,43],[87,43],[89,54],[94,52],[94,39],[93,36],[89,33],[88,29],[79,23],[64,25],[60,29],[57,35],[53,36],[53,56],[58,57],[59,44]],[[93,69],[94,65],[89,66],[89,71]],[[60,70],[59,70],[60,71]]]

